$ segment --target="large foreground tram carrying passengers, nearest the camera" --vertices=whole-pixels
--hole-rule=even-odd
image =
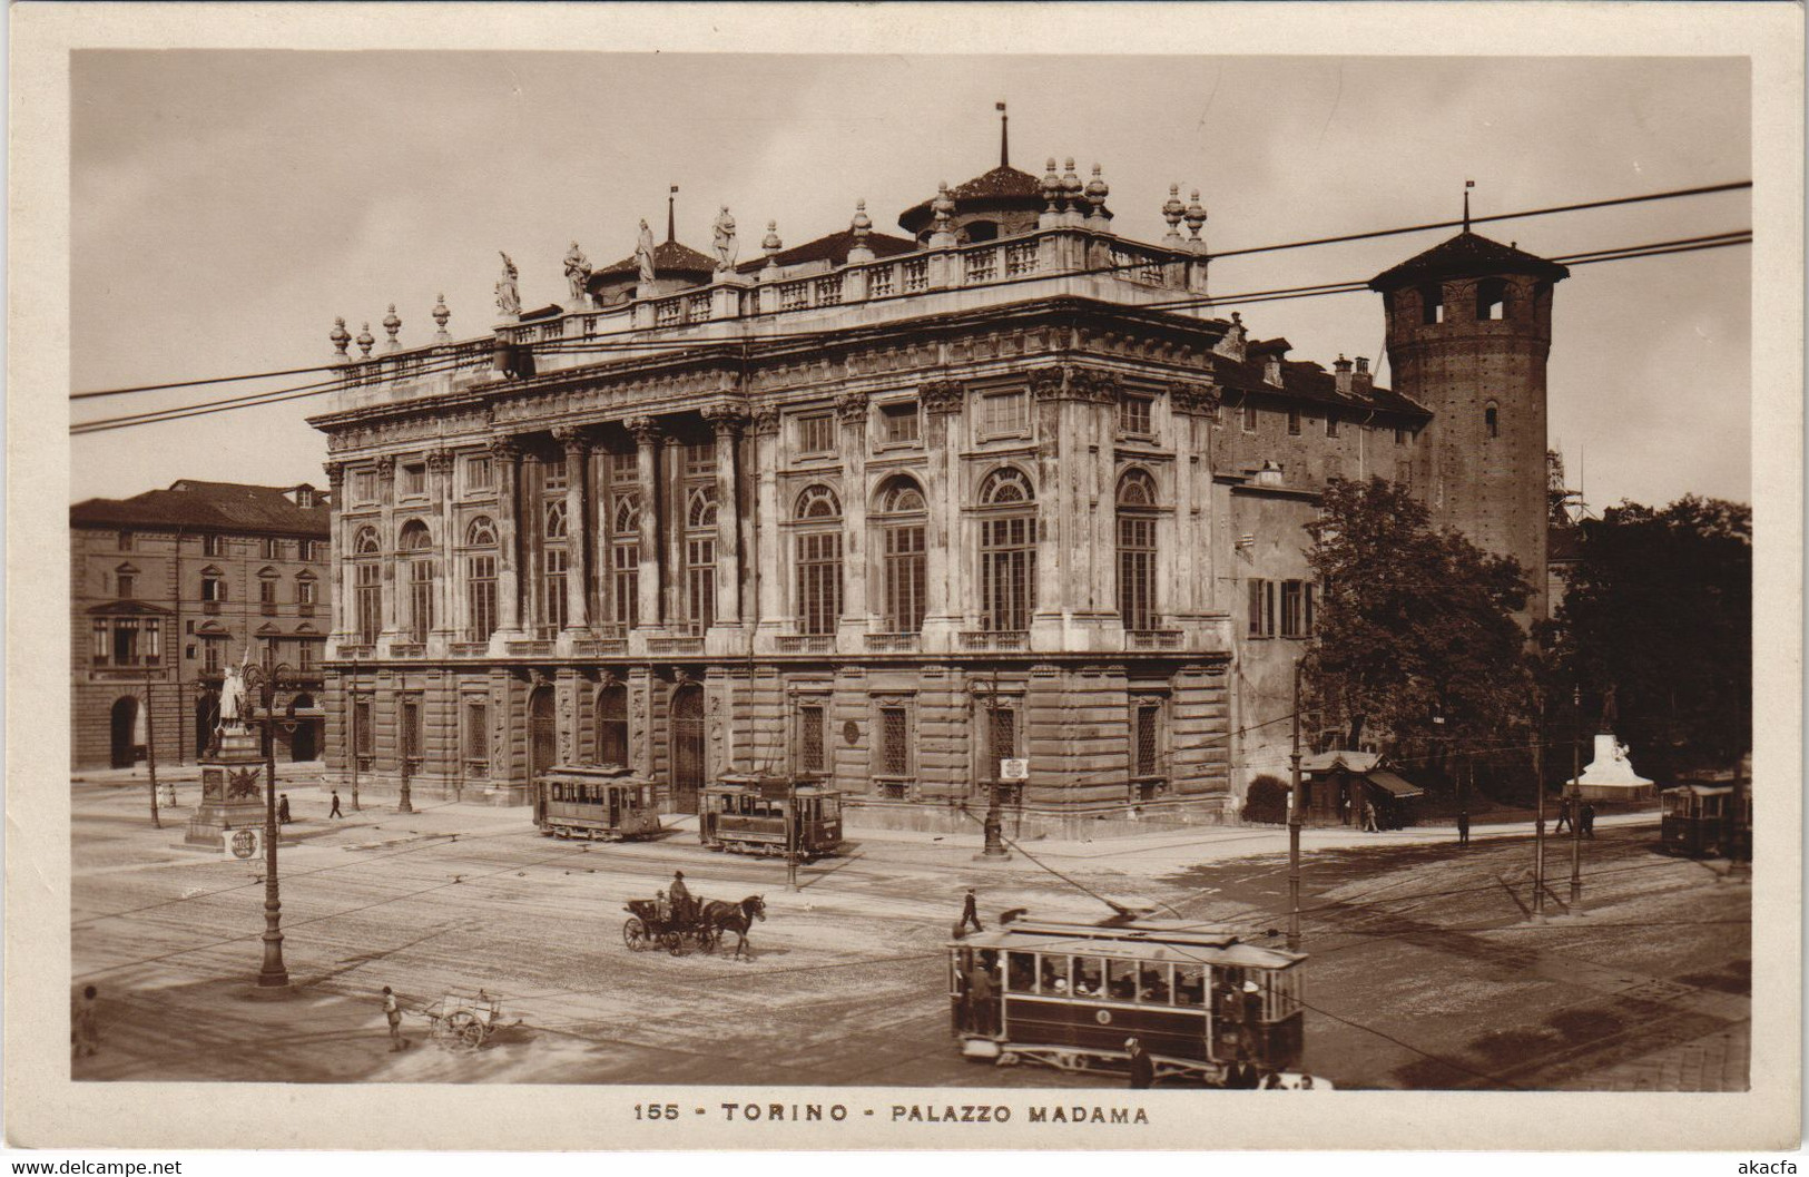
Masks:
[[[1018,920],[950,942],[950,1019],[970,1059],[1123,1068],[1136,1038],[1156,1077],[1225,1085],[1299,1068],[1304,960],[1174,922]]]

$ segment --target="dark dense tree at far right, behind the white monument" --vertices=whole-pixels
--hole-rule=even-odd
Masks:
[[[1585,739],[1614,730],[1644,775],[1726,768],[1753,742],[1753,511],[1684,496],[1579,523],[1549,641],[1552,694],[1583,690]]]

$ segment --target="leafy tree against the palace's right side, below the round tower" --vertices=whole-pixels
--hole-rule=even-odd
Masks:
[[[1306,531],[1322,596],[1304,684],[1346,746],[1373,732],[1442,770],[1451,753],[1514,742],[1532,686],[1520,565],[1433,529],[1382,478],[1330,483]]]

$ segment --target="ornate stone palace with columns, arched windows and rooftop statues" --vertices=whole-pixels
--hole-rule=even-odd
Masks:
[[[505,257],[481,339],[447,333],[443,299],[425,348],[394,308],[376,355],[336,326],[313,420],[327,780],[516,804],[552,764],[620,762],[689,811],[720,773],[819,771],[872,820],[959,824],[1024,757],[1026,813],[1234,815],[1284,771],[1317,487],[1438,485],[1449,516],[1476,476],[1366,360],[1290,360],[1205,306],[1198,194],[1154,244],[1113,232],[1107,196],[1098,168],[1000,165],[906,210],[910,237],[863,205],[791,250],[769,223],[740,263],[724,210],[713,257],[646,225],[601,270],[573,244],[541,310]],[[1487,353],[1500,321],[1445,324],[1425,292],[1471,306],[1482,266],[1489,313],[1538,335],[1549,310],[1550,275],[1485,244],[1378,279],[1440,404],[1474,389],[1433,335]],[[1503,451],[1538,435],[1543,560],[1532,351],[1538,420],[1489,395]]]

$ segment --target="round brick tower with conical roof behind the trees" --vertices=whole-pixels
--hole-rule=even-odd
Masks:
[[[1433,411],[1413,487],[1433,522],[1527,572],[1545,617],[1545,357],[1568,270],[1469,230],[1378,273],[1395,391]]]

